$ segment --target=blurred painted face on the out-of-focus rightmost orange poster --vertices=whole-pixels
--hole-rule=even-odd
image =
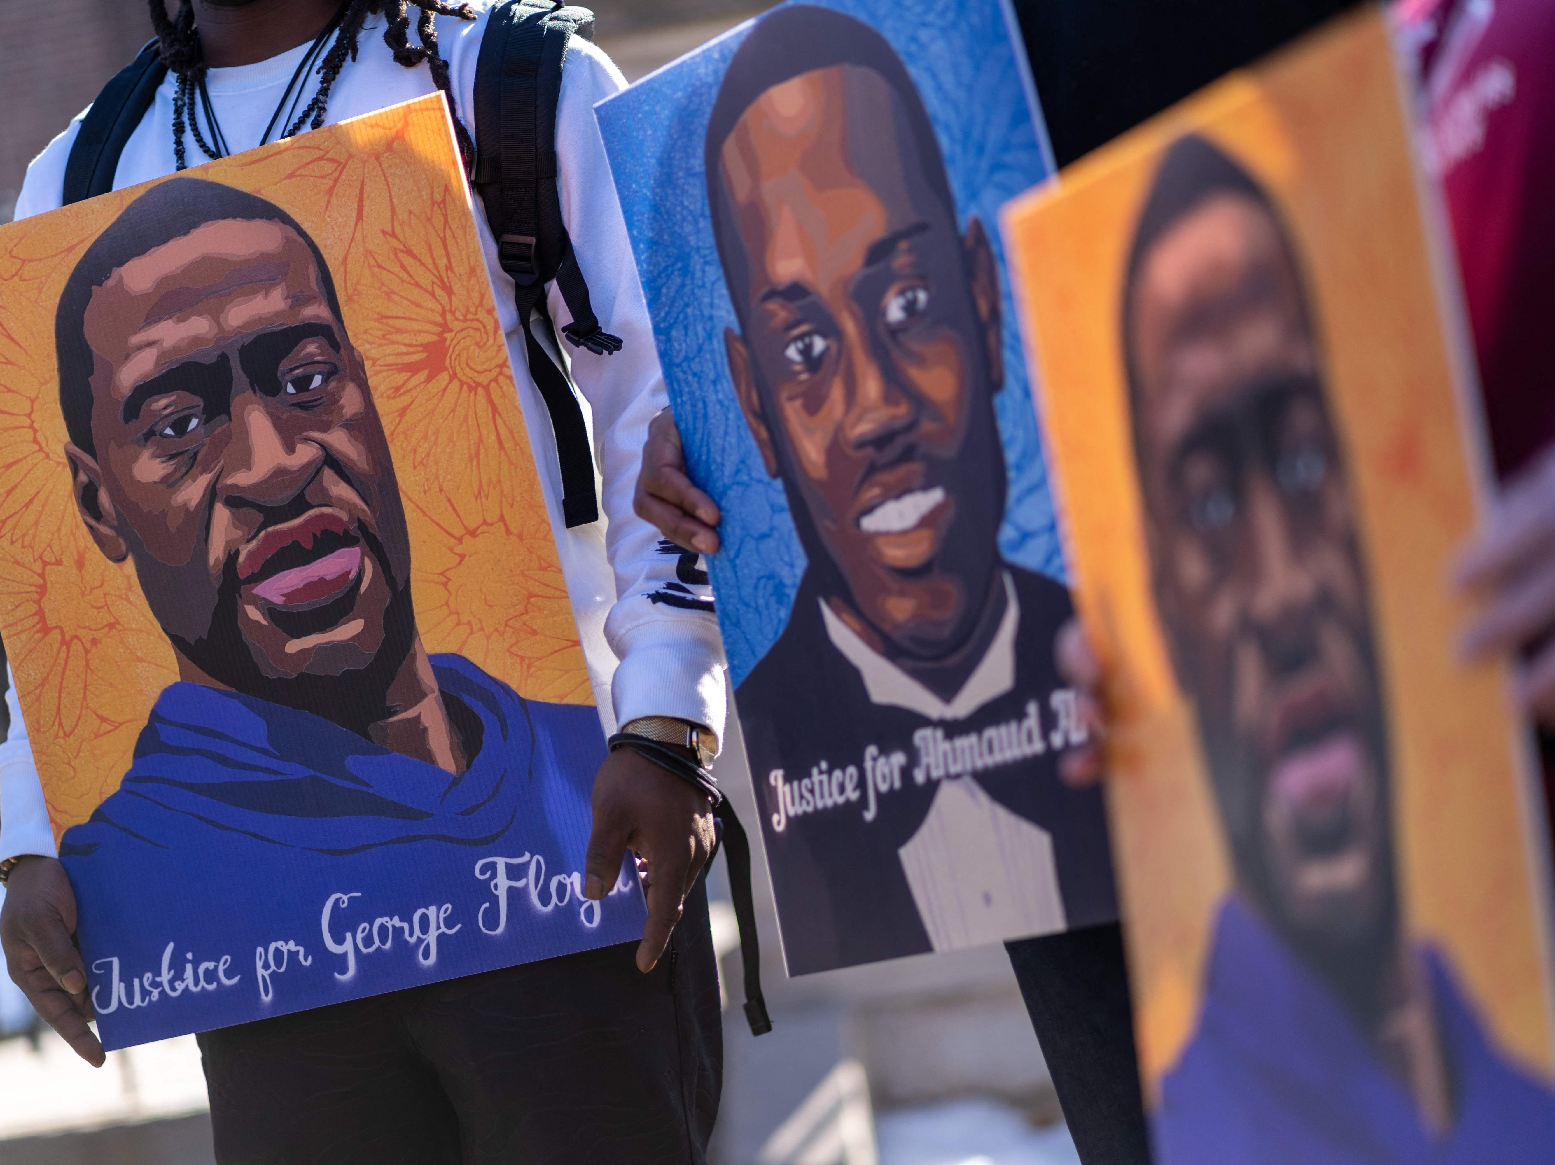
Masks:
[[[1130,288],[1157,602],[1242,883],[1288,932],[1393,905],[1386,733],[1354,509],[1289,243],[1216,194]]]

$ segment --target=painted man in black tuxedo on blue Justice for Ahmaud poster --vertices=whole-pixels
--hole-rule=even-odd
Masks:
[[[1056,562],[1001,548],[1033,470],[1008,465],[995,409],[1008,378],[1025,392],[1003,272],[919,86],[871,19],[785,5],[739,40],[704,124],[720,408],[804,563],[736,667],[790,972],[1112,921],[1101,798],[1056,775],[1081,739],[1053,649],[1068,593]],[[746,614],[720,579],[715,558],[729,639]]]

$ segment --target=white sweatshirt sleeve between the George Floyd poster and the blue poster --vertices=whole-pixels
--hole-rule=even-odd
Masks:
[[[592,44],[572,45],[557,104],[561,215],[594,314],[624,342],[614,356],[566,345],[574,380],[592,411],[603,478],[600,507],[608,518],[606,549],[616,574],[616,603],[605,621],[605,638],[620,659],[611,683],[616,723],[676,715],[722,739],[723,641],[706,565],[664,543],[658,529],[631,509],[648,422],[669,398],[627,222],[594,120],[594,103],[620,90],[625,81]],[[572,322],[555,285],[547,303],[558,331]],[[624,359],[628,352],[633,358]]]

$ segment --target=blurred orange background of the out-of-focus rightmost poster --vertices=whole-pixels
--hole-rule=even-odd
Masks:
[[[1406,112],[1386,16],[1361,6],[1005,212],[1076,605],[1116,677],[1107,807],[1151,1103],[1197,1027],[1214,911],[1233,880],[1155,608],[1120,336],[1140,207],[1185,132],[1270,193],[1311,280],[1387,684],[1406,924],[1448,957],[1497,1047],[1555,1078],[1527,729],[1504,669],[1465,664],[1454,647],[1473,608],[1446,580],[1476,524],[1474,462],[1488,462],[1454,364],[1462,320],[1437,297]]]

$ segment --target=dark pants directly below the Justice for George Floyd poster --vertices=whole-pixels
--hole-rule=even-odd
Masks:
[[[701,1165],[723,1072],[708,891],[636,944],[199,1037],[221,1165]]]

